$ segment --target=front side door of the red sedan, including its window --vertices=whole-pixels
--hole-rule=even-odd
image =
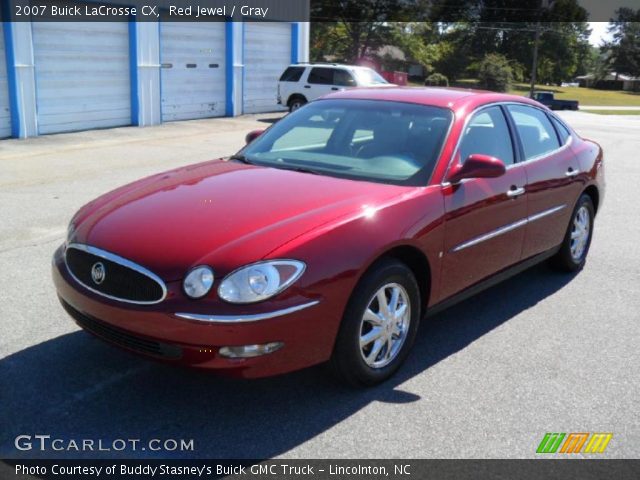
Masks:
[[[445,248],[441,299],[517,263],[521,258],[527,217],[523,164],[500,106],[476,112],[462,134],[454,162],[471,154],[502,160],[507,171],[498,178],[473,178],[443,185]]]

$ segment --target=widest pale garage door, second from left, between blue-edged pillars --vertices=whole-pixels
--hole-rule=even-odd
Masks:
[[[131,124],[129,25],[33,23],[39,133]]]

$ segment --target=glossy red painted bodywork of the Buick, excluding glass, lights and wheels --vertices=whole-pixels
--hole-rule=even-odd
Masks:
[[[548,111],[533,100],[436,88],[357,89],[326,98],[451,109],[453,123],[428,185],[347,180],[226,160],[154,175],[84,206],[73,219],[75,231],[68,241],[144,266],[164,280],[166,298],[154,305],[132,305],[87,290],[66,268],[65,242],[53,262],[61,300],[140,339],[180,346],[181,358],[167,361],[243,377],[273,375],[329,359],[351,292],[367,268],[388,252],[405,249],[423,257],[428,265],[423,303],[429,308],[560,244],[573,206],[586,189],[596,196],[596,203],[602,202],[602,151],[573,132],[568,147],[516,164],[498,178],[471,179],[463,185],[446,181],[465,122],[474,110],[513,102]],[[580,173],[567,176],[569,168]],[[509,198],[506,192],[513,185],[525,186],[526,194]],[[473,248],[452,251],[469,239],[555,205],[567,208]],[[280,258],[304,261],[307,268],[276,297],[250,305],[218,298],[217,287],[231,271]],[[182,280],[197,265],[210,265],[215,283],[205,298],[192,300],[183,293]],[[202,323],[175,316],[176,312],[253,315],[309,301],[318,303],[255,322]],[[218,353],[222,346],[274,341],[284,347],[254,358],[228,359]]]

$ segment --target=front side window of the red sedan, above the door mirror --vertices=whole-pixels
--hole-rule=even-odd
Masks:
[[[474,153],[499,158],[505,165],[513,164],[511,134],[500,107],[481,110],[467,125],[460,143],[460,161]]]

